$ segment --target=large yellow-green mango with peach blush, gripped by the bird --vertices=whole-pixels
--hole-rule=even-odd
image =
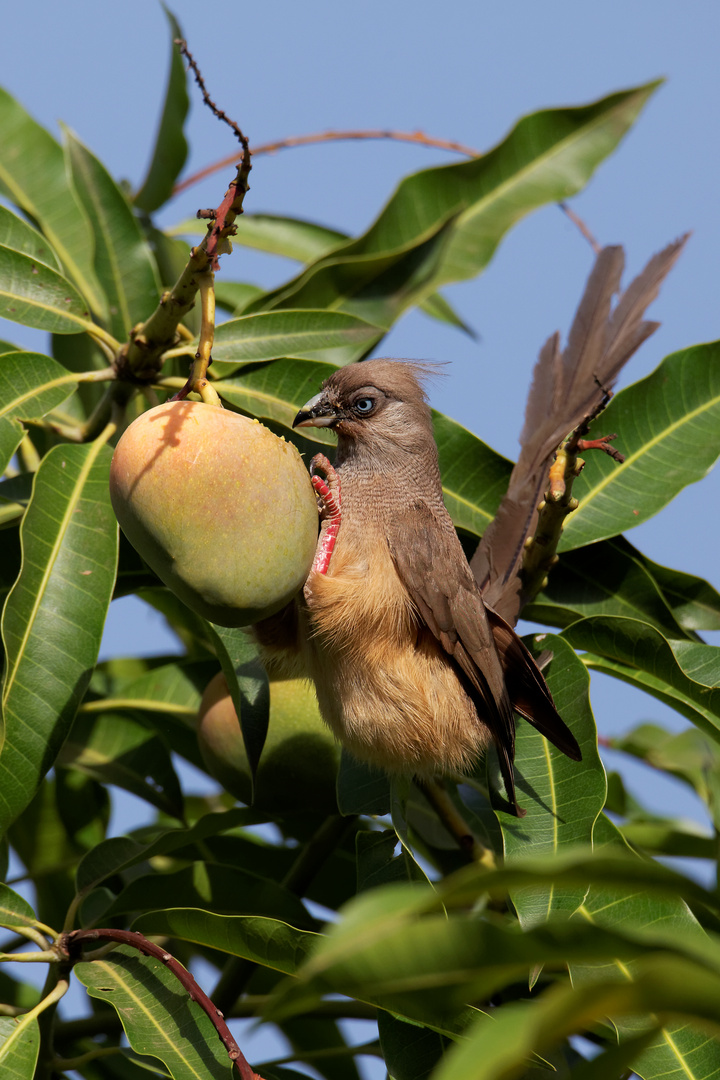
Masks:
[[[221,626],[279,611],[302,588],[317,505],[291,443],[202,402],[166,402],[126,429],[110,467],[120,526],[161,581]]]

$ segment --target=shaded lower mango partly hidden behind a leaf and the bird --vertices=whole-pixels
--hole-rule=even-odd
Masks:
[[[249,804],[250,767],[221,672],[203,694],[198,743],[209,774],[236,799]],[[339,761],[340,747],[321,719],[310,684],[304,679],[271,681],[270,721],[255,778],[254,806],[277,813],[337,813]]]

